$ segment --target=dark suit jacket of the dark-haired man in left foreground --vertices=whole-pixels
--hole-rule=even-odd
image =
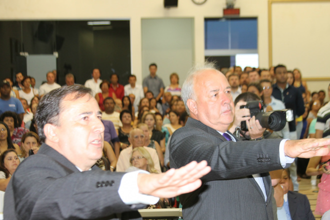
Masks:
[[[144,205],[126,205],[119,197],[124,173],[92,169],[80,172],[42,144],[12,175],[4,196],[4,219],[117,219],[115,213],[141,219],[133,210]]]

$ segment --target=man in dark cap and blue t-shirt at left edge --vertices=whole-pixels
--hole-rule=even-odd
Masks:
[[[0,115],[5,111],[12,111],[19,115],[20,119],[23,120],[24,108],[18,98],[10,96],[10,84],[9,81],[0,81]]]

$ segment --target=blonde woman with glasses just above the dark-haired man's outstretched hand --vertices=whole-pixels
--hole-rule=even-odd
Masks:
[[[154,168],[154,163],[152,161],[150,153],[144,149],[144,147],[136,147],[132,150],[130,155],[130,165],[138,169],[148,171],[150,173],[159,173],[157,169]],[[125,171],[130,171],[131,167],[128,167]]]

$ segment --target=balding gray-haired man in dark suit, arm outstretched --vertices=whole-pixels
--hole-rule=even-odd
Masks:
[[[230,85],[211,64],[193,68],[181,92],[190,118],[172,134],[170,167],[202,159],[211,166],[201,187],[180,195],[184,219],[273,219],[267,171],[287,167],[291,157],[329,151],[323,146],[330,139],[258,140],[253,129],[262,128],[254,116],[246,124],[258,141],[237,141],[227,131],[234,116]]]

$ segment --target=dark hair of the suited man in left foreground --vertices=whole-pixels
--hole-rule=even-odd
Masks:
[[[89,94],[90,97],[92,95],[90,88],[78,84],[60,87],[46,93],[41,98],[35,112],[35,121],[38,126],[38,134],[41,142],[44,142],[46,139],[43,132],[45,124],[50,123],[55,126],[60,125],[59,114],[64,110],[62,102],[69,94],[74,94],[74,97],[71,100],[76,100],[86,94]]]

